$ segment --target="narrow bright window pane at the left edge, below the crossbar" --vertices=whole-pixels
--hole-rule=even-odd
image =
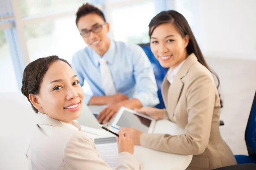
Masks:
[[[9,45],[6,42],[4,31],[0,30],[0,93],[19,91],[15,71],[13,68]]]

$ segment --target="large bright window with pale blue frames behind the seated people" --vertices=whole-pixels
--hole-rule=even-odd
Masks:
[[[87,46],[75,23],[77,9],[87,2],[106,13],[114,40],[149,42],[156,0],[0,0],[0,76],[8,79],[0,91],[20,91],[29,62],[50,55],[71,62]]]

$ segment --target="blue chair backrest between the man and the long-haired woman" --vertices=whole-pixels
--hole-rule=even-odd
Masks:
[[[166,75],[167,72],[167,68],[163,68],[160,63],[158,62],[158,60],[154,57],[154,54],[151,52],[150,49],[150,43],[148,44],[139,44],[141,46],[141,48],[145,51],[145,53],[148,56],[148,59],[150,60],[153,70],[154,70],[154,75],[156,77],[156,82],[157,82],[157,94],[158,94],[158,98],[160,103],[158,105],[156,105],[156,108],[160,108],[163,109],[165,108],[164,102],[163,102],[163,97],[161,94],[161,85],[163,82],[163,79]]]

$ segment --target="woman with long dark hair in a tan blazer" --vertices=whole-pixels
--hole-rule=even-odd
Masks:
[[[186,19],[177,11],[162,11],[149,24],[151,51],[169,68],[162,84],[166,109],[137,111],[155,119],[169,119],[182,135],[148,134],[121,128],[134,144],[154,150],[193,155],[189,170],[210,170],[236,164],[219,131],[221,100],[212,74]],[[219,82],[218,82],[219,84]],[[166,127],[168,128],[168,127]]]

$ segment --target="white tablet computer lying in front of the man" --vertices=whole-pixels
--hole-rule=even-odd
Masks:
[[[111,123],[111,126],[119,129],[119,127],[132,127],[144,133],[152,133],[156,119],[151,118],[134,110],[121,107]]]

